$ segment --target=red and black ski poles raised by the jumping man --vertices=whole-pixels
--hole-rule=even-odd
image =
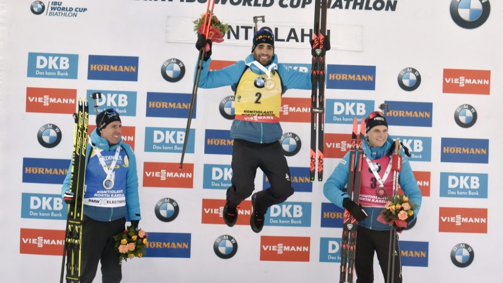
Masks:
[[[211,10],[210,10],[210,3],[212,3]],[[206,6],[206,15],[205,15],[204,24],[203,24],[203,34],[206,39],[208,38],[208,35],[210,32],[211,18],[213,16],[213,8],[214,7],[215,7],[215,1],[208,0],[208,5]],[[183,167],[185,151],[187,150],[187,141],[189,139],[190,125],[192,122],[192,115],[194,114],[194,104],[196,102],[197,89],[199,87],[199,79],[201,77],[201,70],[203,69],[203,59],[206,55],[206,52],[209,51],[209,49],[206,50],[206,46],[201,48],[201,50],[199,50],[199,56],[197,58],[196,78],[194,79],[194,85],[192,87],[192,96],[191,96],[191,100],[190,100],[189,117],[187,118],[187,127],[185,128],[184,145],[182,147],[182,158],[180,159],[180,169],[182,169],[182,167]]]

